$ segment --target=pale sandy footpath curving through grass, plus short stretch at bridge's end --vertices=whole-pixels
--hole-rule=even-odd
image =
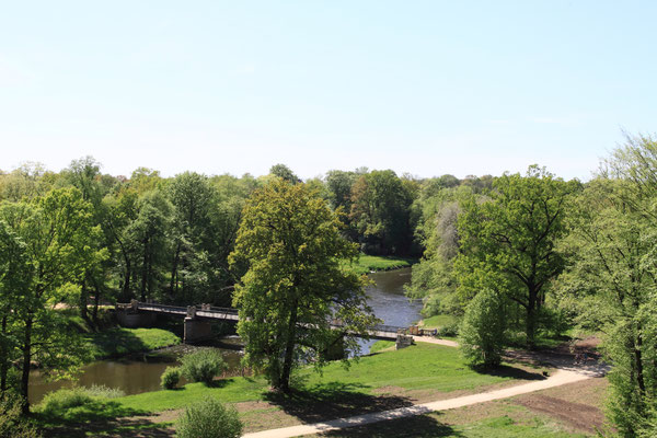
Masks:
[[[426,342],[429,344],[439,344],[456,347],[458,344],[453,341],[426,338],[414,336],[416,342]],[[364,426],[372,423],[387,422],[411,417],[415,415],[428,414],[435,411],[447,411],[457,407],[469,406],[472,404],[491,402],[493,400],[508,399],[511,396],[527,394],[528,392],[541,391],[549,388],[561,387],[562,384],[575,383],[580,380],[601,377],[606,368],[600,365],[589,365],[579,367],[560,367],[560,369],[545,380],[519,384],[517,387],[505,388],[496,391],[482,392],[479,394],[464,395],[454,399],[440,400],[416,404],[410,407],[400,407],[396,410],[377,412],[372,414],[356,415],[347,418],[337,418],[330,422],[314,423],[309,425],[299,425],[283,427],[280,429],[262,430],[253,434],[246,434],[243,438],[288,438],[311,434],[321,434],[330,430],[345,429],[347,427]]]

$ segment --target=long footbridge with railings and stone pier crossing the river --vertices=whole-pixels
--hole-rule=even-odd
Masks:
[[[185,319],[185,343],[199,342],[211,336],[210,323],[212,321],[238,322],[238,309],[218,308],[210,304],[201,306],[166,306],[132,300],[130,303],[116,303],[118,322],[124,326],[147,325],[153,322],[157,314],[169,314]],[[311,324],[299,323],[299,326],[312,328]],[[344,325],[333,320],[331,328],[344,330]],[[395,325],[374,325],[366,334],[344,331],[346,335],[367,337],[371,339],[399,342],[400,335],[405,335],[406,327]]]

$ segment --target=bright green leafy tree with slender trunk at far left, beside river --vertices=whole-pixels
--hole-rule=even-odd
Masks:
[[[21,351],[20,392],[30,410],[27,388],[33,360],[46,370],[70,372],[83,351],[79,335],[61,321],[56,303],[79,293],[77,284],[99,255],[92,246],[100,229],[93,227],[91,205],[76,188],[51,191],[33,201],[3,204],[0,221],[24,245],[30,275],[12,293],[14,336]]]

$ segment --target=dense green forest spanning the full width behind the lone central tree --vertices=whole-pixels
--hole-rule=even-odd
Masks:
[[[471,333],[477,319],[498,331],[498,348],[601,334],[613,365],[610,418],[626,436],[655,427],[657,143],[641,136],[588,182],[537,165],[462,180],[360,168],[302,182],[284,164],[260,177],[162,177],[146,168],[126,177],[90,157],[59,173],[39,164],[1,172],[0,391],[25,395],[34,361],[80,364],[83,346],[59,320],[61,304],[91,327],[107,302],[229,306],[245,272],[229,263],[244,207],[281,180],[322,198],[361,253],[419,258],[407,295],[424,300],[425,316],[456,318],[445,334],[459,324]]]

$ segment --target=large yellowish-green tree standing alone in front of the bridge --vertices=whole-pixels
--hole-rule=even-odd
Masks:
[[[256,191],[244,208],[230,256],[233,265],[249,266],[235,287],[238,333],[246,362],[283,391],[301,357],[323,364],[322,353],[341,335],[357,350],[349,333],[364,333],[376,322],[366,303],[366,279],[341,264],[358,255],[341,235],[342,227],[316,193],[283,180]],[[343,333],[331,330],[332,319],[342,321]]]

